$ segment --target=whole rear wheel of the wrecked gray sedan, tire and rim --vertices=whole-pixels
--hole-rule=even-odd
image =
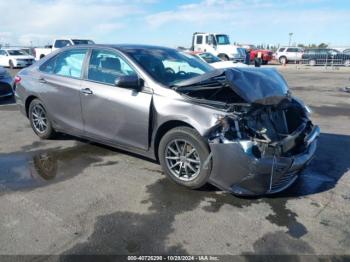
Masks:
[[[35,134],[41,139],[53,138],[56,134],[47,115],[44,104],[39,99],[34,99],[28,110],[30,125]]]

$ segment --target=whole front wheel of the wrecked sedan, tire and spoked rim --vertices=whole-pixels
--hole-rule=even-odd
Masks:
[[[182,156],[175,154],[180,151]],[[177,127],[168,131],[159,143],[158,152],[160,164],[170,180],[191,189],[200,188],[207,183],[212,163],[209,161],[206,166],[204,163],[210,154],[209,147],[193,128]],[[179,169],[178,172],[176,169]]]

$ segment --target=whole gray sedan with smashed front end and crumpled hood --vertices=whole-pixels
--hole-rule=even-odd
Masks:
[[[279,192],[320,133],[274,69],[216,70],[164,47],[63,48],[22,70],[14,89],[40,138],[64,132],[156,159],[189,188]]]

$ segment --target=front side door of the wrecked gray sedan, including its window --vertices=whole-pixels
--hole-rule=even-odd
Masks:
[[[119,76],[135,74],[116,50],[92,50],[81,93],[87,136],[115,145],[148,148],[152,93],[114,84]]]

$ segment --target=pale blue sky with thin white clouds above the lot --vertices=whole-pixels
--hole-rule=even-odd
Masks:
[[[350,45],[348,0],[0,0],[0,43],[56,37],[190,46],[195,31],[232,42]]]

